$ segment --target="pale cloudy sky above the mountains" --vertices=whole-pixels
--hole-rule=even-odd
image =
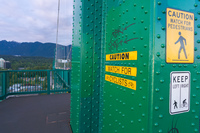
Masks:
[[[60,0],[58,43],[72,43],[73,0]],[[58,0],[1,0],[0,40],[56,43]]]

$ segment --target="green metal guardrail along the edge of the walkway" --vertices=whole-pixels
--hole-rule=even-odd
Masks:
[[[0,100],[9,95],[70,92],[71,70],[0,71]]]

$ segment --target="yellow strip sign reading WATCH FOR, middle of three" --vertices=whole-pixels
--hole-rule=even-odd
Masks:
[[[129,75],[129,76],[136,76],[137,68],[136,67],[106,65],[106,72],[118,73],[118,74]]]

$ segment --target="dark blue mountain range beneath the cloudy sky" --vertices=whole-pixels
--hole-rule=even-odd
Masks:
[[[70,51],[71,45],[58,45],[66,51]],[[0,55],[15,55],[15,56],[40,56],[50,57],[55,56],[55,43],[41,43],[41,42],[15,42],[15,41],[0,41]],[[65,52],[66,55],[68,53]],[[71,57],[71,52],[70,52]]]

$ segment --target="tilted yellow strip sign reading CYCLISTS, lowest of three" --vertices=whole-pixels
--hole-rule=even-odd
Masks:
[[[111,76],[107,74],[105,74],[105,80],[112,82],[114,84],[124,86],[129,89],[136,90],[136,81],[133,81],[133,80],[119,78],[119,77],[115,77],[115,76]]]

